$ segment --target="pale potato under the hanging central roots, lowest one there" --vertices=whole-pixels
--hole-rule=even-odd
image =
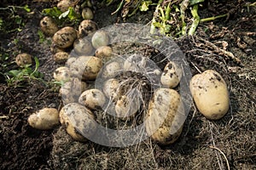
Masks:
[[[119,100],[117,100],[114,107],[116,116],[125,119],[134,116],[140,108],[140,102],[138,98],[130,98],[123,95]]]

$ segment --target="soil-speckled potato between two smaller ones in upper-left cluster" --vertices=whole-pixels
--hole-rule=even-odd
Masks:
[[[61,30],[56,31],[53,42],[60,48],[69,48],[73,45],[73,42],[77,38],[77,31],[70,26],[61,28]]]

